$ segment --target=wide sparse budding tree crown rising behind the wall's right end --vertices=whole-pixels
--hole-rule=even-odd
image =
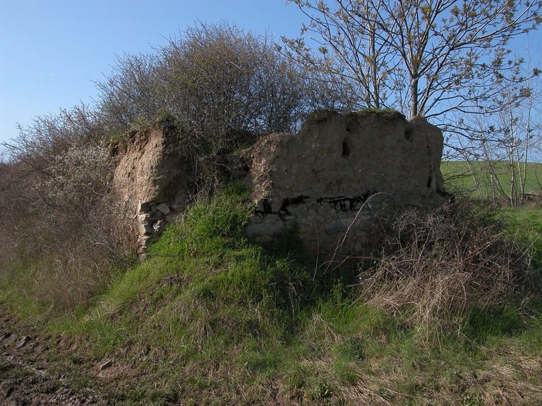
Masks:
[[[308,16],[298,39],[283,38],[291,56],[346,92],[360,107],[408,109],[411,117],[486,110],[514,69],[510,40],[541,22],[540,0],[290,0]],[[332,5],[330,5],[332,4]],[[307,44],[312,39],[317,50]]]

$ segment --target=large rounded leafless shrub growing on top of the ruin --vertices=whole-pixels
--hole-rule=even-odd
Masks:
[[[124,55],[97,82],[110,128],[174,120],[187,151],[214,153],[299,128],[313,93],[271,37],[198,23],[154,54]]]

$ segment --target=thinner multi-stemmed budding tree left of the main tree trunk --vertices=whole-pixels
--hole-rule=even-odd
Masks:
[[[309,72],[318,73],[322,82],[340,89],[346,108],[359,104],[376,109],[385,106],[393,56],[383,40],[387,33],[376,23],[382,2],[339,1],[335,10],[323,1],[294,3],[311,23],[303,25],[301,37],[282,38],[287,54]],[[317,51],[308,46],[306,37],[318,44]]]

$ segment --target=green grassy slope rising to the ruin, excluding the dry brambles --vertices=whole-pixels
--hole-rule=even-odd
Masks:
[[[108,377],[121,385],[112,400],[542,402],[536,307],[511,303],[500,312],[475,312],[447,333],[409,323],[401,312],[359,301],[351,288],[355,273],[319,269],[292,250],[293,236],[274,250],[247,242],[241,233],[250,208],[245,198],[246,190],[231,187],[192,207],[149,259],[119,275],[88,310],[49,321],[54,331],[92,343],[87,362],[115,360]],[[526,227],[529,238],[537,238],[538,216],[529,216],[514,214],[510,233]],[[5,304],[11,293],[5,283],[2,288]],[[13,311],[46,312],[47,303],[30,305],[32,312],[24,303],[12,304]]]

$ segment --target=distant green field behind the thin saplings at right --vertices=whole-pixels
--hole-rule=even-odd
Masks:
[[[464,190],[469,195],[492,197],[492,180],[490,176],[490,163],[488,161],[474,161],[471,163],[475,176],[472,176],[471,168],[466,161],[448,161],[440,164],[440,171],[444,177],[447,190],[454,192]],[[510,196],[510,184],[512,176],[509,166],[505,162],[493,163],[493,185],[498,197]],[[542,190],[542,164],[528,163],[525,192],[529,195],[541,195]],[[516,184],[519,190],[519,171],[516,168]],[[475,182],[476,179],[476,182]],[[478,183],[478,186],[476,186]]]

